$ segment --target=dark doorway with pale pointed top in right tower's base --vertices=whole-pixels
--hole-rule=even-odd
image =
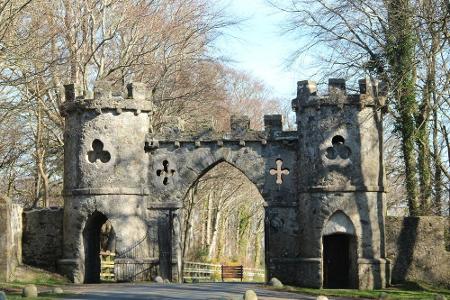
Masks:
[[[357,288],[355,227],[342,211],[335,212],[322,231],[324,288]]]

